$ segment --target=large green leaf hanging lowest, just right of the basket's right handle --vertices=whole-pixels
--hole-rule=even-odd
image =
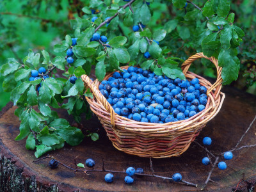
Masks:
[[[239,59],[232,55],[230,49],[221,49],[218,60],[220,67],[223,67],[221,73],[223,84],[230,84],[232,81],[236,81],[240,68]]]

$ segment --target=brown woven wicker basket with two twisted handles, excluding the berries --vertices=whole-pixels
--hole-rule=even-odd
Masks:
[[[211,84],[203,77],[188,72],[191,63],[198,58],[206,58],[214,63],[218,74],[216,83]],[[128,67],[122,67],[122,69],[126,68]],[[136,122],[117,115],[111,104],[100,93],[98,88],[100,82],[97,80],[93,82],[88,76],[82,76],[84,83],[94,95],[93,99],[86,97],[86,100],[93,113],[98,116],[115,148],[127,154],[154,158],[180,156],[188,149],[205,124],[220,111],[225,94],[220,92],[223,81],[221,79],[222,68],[218,66],[218,60],[215,58],[208,58],[202,53],[197,53],[184,61],[182,70],[187,79],[197,77],[200,84],[207,88],[207,104],[203,111],[191,118],[166,124]],[[113,72],[107,74],[104,80],[112,74]]]

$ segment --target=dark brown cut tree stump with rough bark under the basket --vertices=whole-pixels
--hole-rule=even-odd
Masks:
[[[200,135],[196,138],[202,143],[202,138],[210,136],[212,145],[209,147],[213,152],[225,152],[232,149],[244,134],[256,114],[256,97],[243,93],[230,86],[225,86],[226,94],[220,113],[212,119]],[[1,150],[1,188],[0,191],[200,191],[211,170],[211,166],[204,166],[202,158],[206,156],[204,150],[195,143],[180,157],[165,159],[152,159],[154,173],[166,177],[172,177],[173,173],[179,172],[182,179],[198,184],[198,188],[170,182],[169,180],[152,177],[134,177],[132,185],[124,183],[125,174],[115,173],[115,180],[111,184],[104,181],[105,172],[93,172],[86,175],[83,172],[72,172],[59,165],[51,170],[48,166],[49,159],[38,163],[33,151],[26,150],[26,140],[15,141],[19,134],[19,118],[13,115],[15,107],[12,103],[0,113],[0,150]],[[61,117],[72,122],[72,116],[65,111],[58,111]],[[84,163],[85,159],[95,159],[96,169],[104,167],[108,170],[125,171],[127,167],[143,168],[145,173],[150,174],[150,161],[148,158],[131,156],[116,150],[108,140],[106,132],[99,120],[93,116],[92,120],[83,120],[83,126],[88,129],[99,129],[100,139],[92,141],[85,138],[76,147],[65,145],[60,150],[49,153],[68,166],[74,167],[74,159],[77,163]],[[241,145],[256,143],[256,124],[252,125]],[[240,191],[253,188],[256,183],[256,147],[244,148],[234,152],[234,158],[226,161],[227,169],[216,168],[212,173],[207,190],[231,191],[236,189],[239,183]],[[223,157],[221,157],[223,160]],[[238,191],[239,191],[238,190]]]

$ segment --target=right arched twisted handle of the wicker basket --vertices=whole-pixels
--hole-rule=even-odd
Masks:
[[[186,75],[186,73],[188,72],[188,69],[189,69],[191,63],[193,61],[197,60],[197,59],[200,59],[200,58],[205,58],[205,59],[211,61],[215,65],[215,67],[217,69],[217,79],[216,79],[216,82],[214,84],[212,84],[211,88],[209,88],[207,90],[207,95],[209,95],[209,93],[211,93],[212,90],[214,90],[216,88],[216,91],[215,91],[215,94],[214,94],[216,96],[219,93],[219,91],[220,91],[221,83],[223,81],[223,79],[221,77],[222,67],[220,67],[218,65],[218,60],[216,58],[214,58],[214,57],[208,58],[202,52],[198,52],[198,53],[194,54],[193,56],[190,56],[188,58],[188,60],[186,60],[186,61],[184,61],[184,63],[182,63],[182,65],[181,65],[182,72],[183,72],[184,75]]]

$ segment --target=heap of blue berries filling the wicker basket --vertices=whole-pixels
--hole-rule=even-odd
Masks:
[[[114,72],[100,83],[99,90],[115,113],[138,122],[164,124],[185,120],[204,110],[207,104],[207,89],[197,78],[170,79],[138,67]]]

